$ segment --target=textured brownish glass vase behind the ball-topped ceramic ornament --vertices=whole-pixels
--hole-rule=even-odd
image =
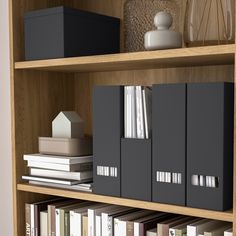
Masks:
[[[171,29],[183,32],[183,0],[126,0],[124,4],[124,50],[126,52],[144,51],[144,35],[155,30],[153,18],[159,11],[173,17]]]

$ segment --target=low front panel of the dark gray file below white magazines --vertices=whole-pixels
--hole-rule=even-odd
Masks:
[[[121,196],[152,198],[151,139],[121,139]]]

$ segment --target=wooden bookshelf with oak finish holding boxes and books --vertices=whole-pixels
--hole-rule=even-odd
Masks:
[[[26,202],[38,201],[49,196],[63,196],[229,221],[233,222],[236,236],[236,171],[234,171],[233,209],[227,212],[22,183],[21,176],[28,171],[23,161],[23,154],[38,152],[38,137],[51,135],[51,121],[59,111],[76,110],[86,121],[85,133],[92,135],[91,102],[92,88],[95,85],[235,81],[235,44],[24,61],[23,15],[28,10],[65,5],[122,19],[123,4],[124,0],[9,0],[14,235],[25,235]],[[234,160],[236,160],[235,134],[236,132],[234,132]],[[236,170],[236,161],[234,169]]]

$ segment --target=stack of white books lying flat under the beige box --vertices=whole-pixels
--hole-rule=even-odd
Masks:
[[[30,184],[92,191],[92,156],[24,155],[29,175],[22,179]]]

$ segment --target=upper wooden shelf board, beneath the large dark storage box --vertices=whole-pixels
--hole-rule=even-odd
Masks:
[[[65,72],[98,72],[155,69],[234,63],[235,44],[179,48],[160,51],[119,53],[97,56],[22,61],[15,69]]]

